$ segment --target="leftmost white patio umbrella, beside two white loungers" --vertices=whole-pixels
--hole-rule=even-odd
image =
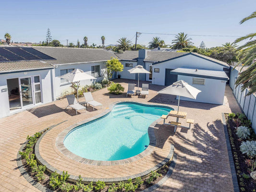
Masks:
[[[96,79],[95,77],[87,74],[81,69],[75,69],[72,72],[68,72],[64,75],[59,76],[62,79],[67,79],[72,83],[77,83],[77,100],[78,100],[78,82],[82,80],[88,80],[88,79]]]

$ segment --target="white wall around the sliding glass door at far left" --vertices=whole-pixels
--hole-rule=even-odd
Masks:
[[[15,72],[15,73],[8,73],[8,74],[0,74],[0,101],[1,101],[0,118],[11,114],[10,108],[9,108],[8,91],[6,91],[6,92],[4,91],[4,89],[8,89],[7,79],[40,75],[42,102],[49,103],[52,101],[52,94],[50,91],[51,90],[50,71],[51,70],[41,70],[41,71],[33,71],[33,72]]]

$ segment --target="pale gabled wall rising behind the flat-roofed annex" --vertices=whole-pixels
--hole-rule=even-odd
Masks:
[[[209,60],[199,58],[194,55],[186,55],[177,59],[161,62],[153,65],[153,81],[152,84],[165,84],[165,69],[176,69],[180,67],[198,68],[215,71],[223,71],[223,66]],[[158,68],[159,72],[154,72]]]

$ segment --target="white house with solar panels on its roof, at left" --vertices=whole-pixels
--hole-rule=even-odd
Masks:
[[[0,118],[49,103],[70,91],[71,83],[58,76],[73,69],[102,80],[111,57],[115,55],[103,49],[0,47]]]

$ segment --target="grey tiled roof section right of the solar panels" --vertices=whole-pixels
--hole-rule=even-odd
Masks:
[[[96,61],[107,61],[111,57],[116,57],[113,53],[99,48],[55,48],[55,47],[33,47],[36,50],[55,58],[49,63],[70,64],[70,63],[85,63]]]

